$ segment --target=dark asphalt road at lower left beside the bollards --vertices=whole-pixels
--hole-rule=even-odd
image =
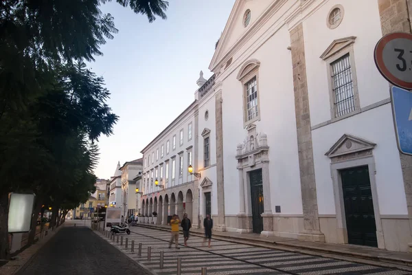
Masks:
[[[146,275],[135,262],[89,228],[62,228],[19,275]]]

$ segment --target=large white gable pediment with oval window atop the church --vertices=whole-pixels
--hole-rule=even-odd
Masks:
[[[253,25],[275,2],[277,0],[236,0],[209,65],[212,72],[216,71],[215,68],[219,63],[224,62],[223,65],[226,65],[233,56],[233,54],[231,56],[227,56],[227,54],[248,32],[253,31]],[[245,27],[244,14],[247,10],[251,10],[251,20],[249,25]]]

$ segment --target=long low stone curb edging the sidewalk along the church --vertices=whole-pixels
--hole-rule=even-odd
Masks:
[[[141,228],[148,228],[152,230],[159,230],[159,231],[166,231],[169,232],[167,228],[161,228],[153,225],[146,225],[146,224],[137,224],[137,227]],[[179,231],[180,234],[183,234],[183,232]],[[203,237],[203,234],[200,232],[195,232],[191,231],[191,235],[193,236],[201,236]],[[310,256],[320,256],[323,258],[328,258],[328,259],[335,259],[335,260],[341,260],[341,261],[350,261],[352,263],[361,263],[363,265],[373,265],[377,267],[386,267],[386,268],[391,268],[393,270],[402,270],[402,271],[407,271],[407,272],[412,272],[412,267],[409,265],[400,265],[399,263],[391,263],[389,261],[384,261],[384,259],[380,259],[378,256],[369,256],[369,259],[363,259],[363,258],[356,258],[354,256],[348,256],[347,254],[331,254],[328,253],[327,251],[319,251],[319,250],[308,250],[308,248],[302,248],[302,247],[297,247],[295,245],[290,245],[290,247],[287,247],[284,244],[280,243],[269,243],[269,242],[262,242],[262,241],[250,241],[247,239],[238,239],[238,238],[231,238],[230,236],[218,236],[218,235],[213,235],[211,239],[215,239],[218,241],[228,241],[230,243],[240,243],[240,244],[246,244],[246,245],[253,245],[255,247],[259,248],[269,248],[269,249],[275,249],[275,250],[282,250],[286,252],[295,252],[299,254],[304,254],[304,255],[310,255]],[[334,252],[334,251],[332,251]],[[334,252],[336,253],[336,252]],[[374,259],[375,261],[371,260]]]

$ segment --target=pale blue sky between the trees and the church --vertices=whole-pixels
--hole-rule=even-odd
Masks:
[[[95,175],[109,179],[117,162],[141,157],[143,149],[194,100],[235,0],[170,0],[168,19],[148,23],[116,1],[102,5],[119,32],[90,63],[111,91],[108,105],[119,115],[113,135],[99,139]]]

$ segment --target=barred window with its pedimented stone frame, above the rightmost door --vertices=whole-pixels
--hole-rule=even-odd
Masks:
[[[332,122],[361,112],[354,59],[356,37],[337,39],[323,52],[328,72]]]

